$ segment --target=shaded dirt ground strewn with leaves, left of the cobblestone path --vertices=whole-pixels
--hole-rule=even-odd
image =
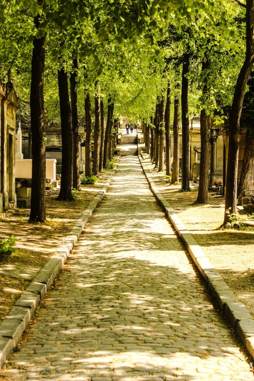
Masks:
[[[82,185],[73,202],[56,201],[59,190],[46,191],[45,224],[28,222],[30,209],[15,209],[9,217],[0,218],[0,238],[17,238],[16,254],[0,262],[0,322],[9,313],[20,293],[45,265],[54,250],[69,234],[76,220],[103,188],[112,170],[105,169],[94,184]]]

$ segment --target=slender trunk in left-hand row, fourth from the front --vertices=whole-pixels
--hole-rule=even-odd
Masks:
[[[85,154],[85,176],[92,175],[91,160],[91,137],[92,137],[92,121],[91,121],[91,102],[89,90],[85,94],[85,114],[86,114],[86,154]]]

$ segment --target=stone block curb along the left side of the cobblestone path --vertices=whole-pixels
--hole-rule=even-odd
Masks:
[[[85,212],[80,216],[68,236],[64,238],[54,255],[41,268],[30,285],[22,292],[14,307],[0,324],[0,369],[6,363],[13,349],[18,344],[25,328],[32,318],[40,300],[50,289],[54,278],[65,264],[70,252],[77,243],[84,226],[87,224],[98,203],[104,198],[116,172],[118,163],[109,176],[104,187],[90,202]]]

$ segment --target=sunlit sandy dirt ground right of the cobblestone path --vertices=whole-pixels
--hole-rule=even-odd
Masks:
[[[191,192],[180,192],[181,185],[170,185],[163,173],[153,169],[154,165],[146,155],[144,158],[145,168],[163,197],[254,317],[254,227],[245,231],[220,229],[224,218],[224,197],[210,194],[208,205],[194,205],[198,195],[196,186]]]

